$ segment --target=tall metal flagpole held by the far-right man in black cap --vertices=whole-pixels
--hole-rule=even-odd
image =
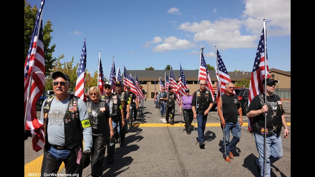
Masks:
[[[265,47],[265,94],[267,94],[267,46],[266,46],[266,20],[264,19],[264,47]],[[267,95],[265,96],[265,104],[266,105],[266,102],[267,102]],[[267,164],[267,143],[266,143],[266,140],[267,140],[267,132],[266,132],[266,127],[267,127],[267,113],[265,113],[265,131],[264,131],[264,134],[265,134],[265,138],[264,138],[264,176],[266,176],[266,173],[267,173],[267,168],[266,168],[266,164]]]

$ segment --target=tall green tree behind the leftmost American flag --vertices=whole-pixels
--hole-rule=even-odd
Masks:
[[[27,3],[24,0],[24,59],[28,53],[29,45],[31,42],[31,36],[33,34],[36,15],[38,9],[37,6],[31,7],[30,3]],[[56,61],[56,58],[52,57],[52,53],[55,51],[56,44],[50,46],[50,41],[53,38],[50,36],[50,33],[54,31],[52,27],[52,22],[50,20],[46,21],[46,24],[43,25],[43,44],[44,44],[44,55],[45,55],[45,75],[49,76],[52,73],[53,63]],[[24,60],[25,62],[25,60]]]

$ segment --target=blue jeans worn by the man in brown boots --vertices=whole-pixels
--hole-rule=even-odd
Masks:
[[[221,126],[222,131],[223,131],[223,127]],[[233,135],[233,138],[230,141],[230,131]],[[224,143],[223,143],[223,156],[224,157],[228,157],[229,153],[231,151],[233,151],[233,149],[235,148],[236,144],[239,142],[239,139],[241,138],[241,126],[239,125],[238,122],[236,123],[232,123],[232,122],[227,122],[225,123],[225,128],[224,128],[224,137],[223,137],[223,141],[224,142],[224,138],[225,138],[225,149],[226,152],[224,151]]]

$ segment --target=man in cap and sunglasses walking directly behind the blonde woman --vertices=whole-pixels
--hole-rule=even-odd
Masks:
[[[117,124],[118,122],[122,123],[122,126],[125,125],[123,107],[119,97],[116,94],[112,93],[112,86],[109,82],[104,83],[105,94],[100,96],[100,100],[106,101],[109,106],[109,111],[112,117],[112,125],[114,128],[114,136],[107,143],[107,163],[114,162],[115,154],[115,144],[116,144],[116,134],[117,134]],[[109,127],[108,127],[109,129]]]

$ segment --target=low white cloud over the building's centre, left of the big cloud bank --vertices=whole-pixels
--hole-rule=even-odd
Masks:
[[[165,50],[190,49],[195,46],[194,43],[191,43],[186,39],[178,39],[177,37],[170,36],[164,39],[164,43],[155,46],[152,51],[162,52]]]

